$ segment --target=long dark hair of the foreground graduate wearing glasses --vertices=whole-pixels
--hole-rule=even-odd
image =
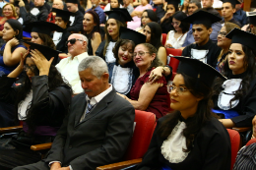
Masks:
[[[194,96],[203,97],[203,99],[198,102],[195,115],[186,120],[187,127],[183,130],[183,136],[186,138],[187,146],[187,149],[183,149],[183,151],[188,152],[192,149],[194,138],[199,133],[202,126],[211,118],[217,116],[212,112],[212,88],[204,85],[202,82],[197,82],[197,79],[189,77],[184,73],[177,72],[177,74],[180,74],[183,77],[186,87]],[[178,110],[166,115],[166,119],[160,125],[160,129],[158,130],[161,139],[167,139],[177,125],[180,116],[181,113]]]

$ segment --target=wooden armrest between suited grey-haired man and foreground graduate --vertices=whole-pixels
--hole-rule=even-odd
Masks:
[[[96,170],[117,170],[117,169],[126,168],[128,166],[138,164],[140,162],[142,162],[142,158],[99,166],[99,167],[96,167]]]

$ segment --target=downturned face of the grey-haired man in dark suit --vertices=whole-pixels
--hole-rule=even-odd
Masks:
[[[108,74],[103,74],[99,79],[92,73],[92,69],[79,72],[81,85],[89,97],[95,97],[104,90],[104,85],[108,83]]]

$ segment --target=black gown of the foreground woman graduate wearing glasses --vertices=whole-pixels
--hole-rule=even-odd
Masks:
[[[227,131],[220,121],[211,118],[201,128],[193,142],[193,148],[187,157],[180,163],[170,163],[161,154],[162,142],[158,135],[160,124],[167,115],[160,118],[154,132],[147,153],[139,170],[160,170],[162,166],[168,166],[172,170],[229,170],[231,161],[230,139]],[[185,121],[184,121],[185,122]]]

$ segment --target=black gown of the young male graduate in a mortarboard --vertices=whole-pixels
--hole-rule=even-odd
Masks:
[[[206,60],[207,60],[207,64],[211,65],[212,67],[216,68],[217,65],[217,59],[218,56],[220,55],[222,48],[219,47],[216,43],[214,43],[211,39],[209,39],[209,41],[202,46],[198,46],[197,43],[192,43],[190,45],[188,45],[187,47],[185,47],[182,51],[182,56],[186,56],[186,57],[190,57],[190,58],[195,58],[198,56],[194,56],[192,55],[192,49],[196,49],[196,50],[209,50],[206,54]]]

